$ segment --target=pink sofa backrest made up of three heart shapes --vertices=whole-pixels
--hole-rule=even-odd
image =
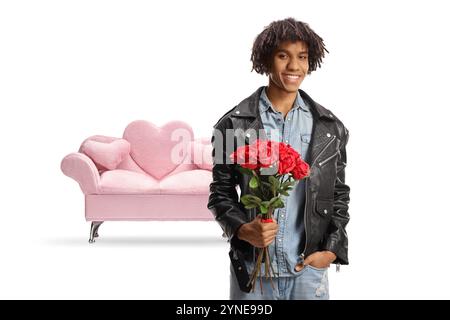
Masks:
[[[109,154],[106,157],[96,155],[99,150]],[[212,170],[210,138],[194,139],[191,126],[183,121],[170,121],[158,127],[145,120],[136,120],[125,128],[123,138],[91,136],[83,141],[79,152],[94,161],[100,174],[123,169],[146,173],[160,180],[186,170]]]

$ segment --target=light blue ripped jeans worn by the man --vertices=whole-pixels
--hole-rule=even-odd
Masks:
[[[263,294],[261,294],[259,277],[255,284],[255,292],[243,292],[230,265],[230,299],[231,300],[328,300],[328,268],[305,266],[294,277],[272,278],[262,277]],[[251,270],[249,270],[251,272]]]

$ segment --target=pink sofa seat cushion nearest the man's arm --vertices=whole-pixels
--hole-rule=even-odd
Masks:
[[[162,194],[209,194],[211,171],[191,170],[168,176],[160,181]]]

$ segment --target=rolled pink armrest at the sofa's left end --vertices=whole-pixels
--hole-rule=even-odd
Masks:
[[[61,171],[73,178],[84,194],[97,194],[100,174],[94,162],[85,154],[73,152],[61,161]]]

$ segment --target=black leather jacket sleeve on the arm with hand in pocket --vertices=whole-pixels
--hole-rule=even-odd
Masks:
[[[333,215],[325,237],[324,250],[332,251],[337,258],[333,263],[348,264],[348,238],[345,227],[350,220],[348,204],[350,187],[345,184],[345,167],[347,165],[346,146],[349,132],[344,127],[344,136],[339,147],[337,160],[337,176],[334,184]]]

